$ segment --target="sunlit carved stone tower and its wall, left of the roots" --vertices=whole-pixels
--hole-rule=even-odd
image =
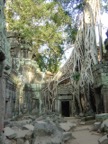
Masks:
[[[43,73],[39,70],[36,61],[32,59],[33,54],[29,44],[22,40],[16,33],[10,32],[7,35],[7,39],[11,45],[12,85],[14,85],[13,89],[16,89],[16,91],[14,95],[10,95],[10,101],[6,101],[6,106],[8,102],[14,102],[13,110],[17,114],[27,111],[32,112],[33,109],[41,113],[41,89],[44,82]],[[8,107],[7,109],[9,110],[10,108]]]

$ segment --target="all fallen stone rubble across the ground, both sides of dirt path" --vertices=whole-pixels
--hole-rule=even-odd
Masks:
[[[89,125],[92,134],[99,134],[99,144],[108,144],[108,117],[99,119],[81,116],[75,120],[65,119],[58,113],[36,116],[24,116],[18,121],[6,121],[4,128],[5,144],[64,144],[74,139],[77,126]],[[76,130],[75,129],[75,130]]]

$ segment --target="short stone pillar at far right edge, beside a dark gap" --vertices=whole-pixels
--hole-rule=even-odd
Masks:
[[[101,94],[103,96],[104,112],[108,113],[108,86],[102,87]]]

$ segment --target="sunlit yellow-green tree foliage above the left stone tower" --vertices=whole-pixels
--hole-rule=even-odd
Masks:
[[[33,43],[32,50],[40,68],[55,72],[63,55],[62,36],[64,27],[71,18],[57,2],[44,0],[7,0],[6,21],[8,30],[20,33],[27,42]],[[40,47],[47,45],[42,53]]]

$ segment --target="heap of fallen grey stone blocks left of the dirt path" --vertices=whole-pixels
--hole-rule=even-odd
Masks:
[[[54,113],[28,117],[7,122],[5,144],[64,144],[72,138],[70,130],[76,126]]]

